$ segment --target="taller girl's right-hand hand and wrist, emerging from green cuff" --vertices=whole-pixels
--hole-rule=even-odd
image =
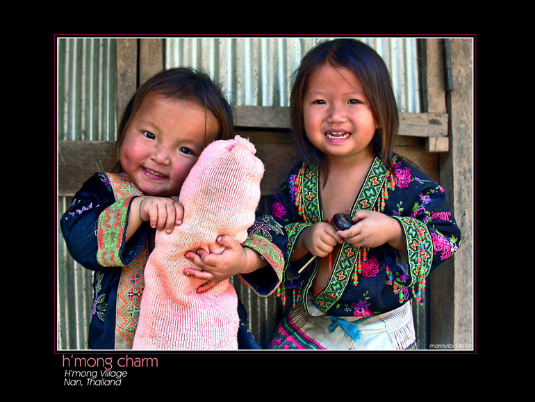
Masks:
[[[376,211],[357,211],[348,230],[337,233],[354,247],[379,247],[389,243],[393,248],[403,250],[402,228],[397,220]]]

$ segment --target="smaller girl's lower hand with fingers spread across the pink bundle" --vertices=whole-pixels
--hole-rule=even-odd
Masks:
[[[222,254],[210,254],[206,250],[197,250],[197,253],[186,252],[185,257],[199,266],[202,271],[186,268],[184,275],[206,280],[206,283],[197,289],[197,293],[207,291],[222,280],[227,280],[238,273],[256,271],[266,264],[256,251],[242,247],[231,236],[219,236],[217,243],[225,247]]]

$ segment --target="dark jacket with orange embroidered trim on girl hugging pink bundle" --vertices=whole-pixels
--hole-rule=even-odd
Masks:
[[[142,192],[126,175],[98,173],[83,184],[60,221],[69,253],[79,264],[94,270],[89,326],[92,349],[132,347],[144,288],[143,271],[150,252],[149,234],[154,232],[143,223],[128,242],[124,241],[129,205],[140,195]],[[270,216],[258,217],[248,230],[242,246],[259,252],[271,268],[241,279],[247,283],[253,275],[252,281],[261,284],[255,287],[261,296],[272,294],[281,281],[287,242],[286,232]],[[239,337],[240,332],[238,342]]]

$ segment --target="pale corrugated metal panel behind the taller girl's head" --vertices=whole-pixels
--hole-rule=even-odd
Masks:
[[[168,38],[165,65],[205,70],[240,106],[288,106],[291,74],[306,52],[329,38]],[[360,38],[384,58],[398,108],[419,113],[415,38]]]

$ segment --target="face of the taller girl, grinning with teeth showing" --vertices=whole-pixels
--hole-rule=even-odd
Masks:
[[[329,159],[370,157],[377,123],[361,81],[345,67],[312,72],[303,99],[306,136]]]

